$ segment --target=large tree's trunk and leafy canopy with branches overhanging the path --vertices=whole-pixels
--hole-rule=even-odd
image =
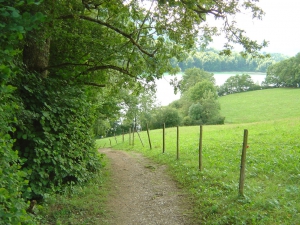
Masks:
[[[44,76],[65,76],[83,83],[107,85],[114,82],[153,80],[174,71],[170,58],[182,60],[183,51],[205,45],[219,31],[206,23],[208,16],[224,21],[221,31],[228,43],[240,43],[255,54],[259,45],[235,27],[230,16],[250,10],[253,17],[263,12],[255,1],[121,1],[46,0],[37,10],[47,23],[27,37],[24,62]],[[121,75],[122,74],[122,75]]]

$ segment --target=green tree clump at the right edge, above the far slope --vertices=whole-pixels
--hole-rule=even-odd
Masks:
[[[300,87],[300,53],[268,68],[267,86]]]

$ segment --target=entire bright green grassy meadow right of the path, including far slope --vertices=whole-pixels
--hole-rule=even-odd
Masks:
[[[225,125],[203,126],[203,170],[198,170],[199,127],[162,130],[97,140],[97,145],[142,152],[167,164],[191,196],[195,224],[300,224],[300,89],[270,89],[220,98]],[[239,170],[244,129],[248,129],[244,196]],[[131,137],[131,140],[133,137]],[[143,145],[144,147],[143,147]]]

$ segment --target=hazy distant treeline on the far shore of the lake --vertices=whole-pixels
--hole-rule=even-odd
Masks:
[[[201,68],[210,72],[225,71],[252,71],[266,72],[274,63],[285,60],[288,57],[280,53],[270,54],[265,58],[243,58],[239,53],[233,52],[230,56],[219,55],[217,50],[209,49],[191,53],[183,62],[175,62],[184,72],[188,68]]]

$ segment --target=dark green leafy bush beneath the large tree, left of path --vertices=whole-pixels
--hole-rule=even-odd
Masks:
[[[91,129],[95,105],[85,90],[34,74],[20,74],[13,84],[20,107],[14,148],[29,173],[30,198],[84,183],[100,169]]]

